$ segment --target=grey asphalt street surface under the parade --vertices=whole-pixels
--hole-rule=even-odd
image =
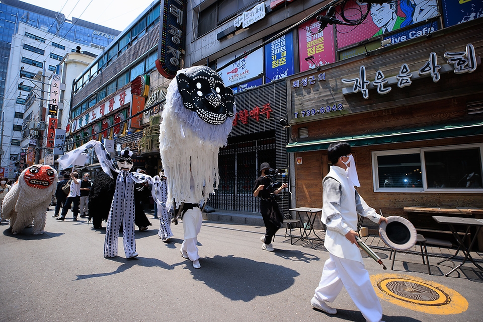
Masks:
[[[0,321],[364,321],[345,289],[331,303],[338,314],[311,307],[329,253],[290,245],[285,229],[270,253],[261,249],[264,227],[203,221],[197,270],[179,252],[182,224],[172,225],[175,236],[165,244],[151,216],[153,225],[136,231],[139,257],[126,260],[121,239],[119,256],[105,259],[105,230],[83,218],[73,222],[70,212],[65,221],[52,214],[42,235],[32,228],[13,235],[8,224],[0,226]],[[451,302],[408,304],[379,291],[386,322],[483,320],[483,275],[472,264],[445,277],[451,263],[430,258],[430,276],[420,256],[398,253],[390,271],[388,253],[377,254],[388,269],[365,256],[372,278],[423,281]]]

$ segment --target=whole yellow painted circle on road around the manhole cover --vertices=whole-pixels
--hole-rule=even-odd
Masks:
[[[468,309],[461,294],[433,281],[399,274],[378,274],[371,281],[380,298],[414,311],[447,315]]]

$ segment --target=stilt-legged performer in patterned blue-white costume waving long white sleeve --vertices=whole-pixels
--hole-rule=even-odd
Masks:
[[[107,175],[112,176],[112,171],[118,173],[115,179],[116,188],[111,209],[107,219],[104,257],[117,256],[117,241],[121,222],[123,226],[123,246],[126,258],[136,257],[138,254],[136,253],[136,240],[134,238],[134,183],[144,182],[150,177],[144,174],[129,172],[133,166],[131,159],[132,151],[129,150],[121,151],[121,157],[117,162],[119,170],[116,169],[109,153],[107,153],[101,142],[96,140],[91,140],[81,147],[62,155],[58,159],[59,165],[65,169],[73,164],[78,155],[88,148],[94,148],[99,158],[101,168]]]

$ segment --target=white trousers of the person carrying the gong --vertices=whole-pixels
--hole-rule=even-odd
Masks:
[[[342,290],[342,286],[346,288],[354,304],[368,322],[381,320],[381,303],[364,264],[330,254],[314,297],[319,301],[333,302]]]

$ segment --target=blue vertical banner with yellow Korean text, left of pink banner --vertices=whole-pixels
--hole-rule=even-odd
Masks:
[[[293,73],[293,36],[288,33],[265,45],[265,74],[269,83]]]

